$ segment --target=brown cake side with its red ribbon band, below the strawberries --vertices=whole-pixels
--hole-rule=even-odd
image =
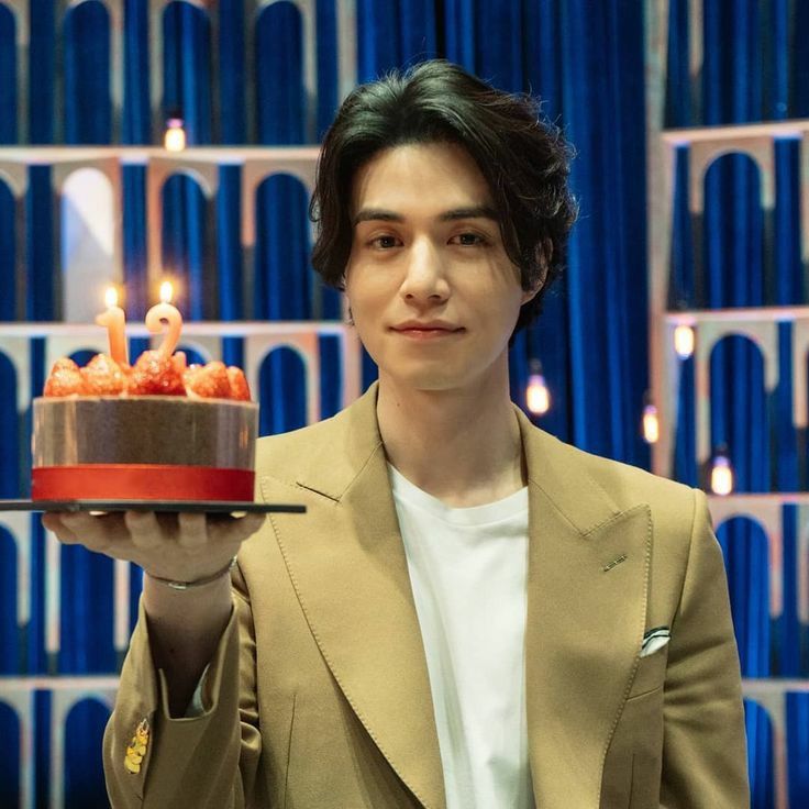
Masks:
[[[35,399],[32,497],[252,499],[257,422],[255,402],[225,399]]]

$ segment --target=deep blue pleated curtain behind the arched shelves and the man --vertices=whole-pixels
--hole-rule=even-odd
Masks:
[[[304,93],[302,18],[292,2],[278,2],[251,19],[254,44],[247,51],[245,3],[221,0],[215,12],[189,2],[173,2],[149,30],[147,3],[124,0],[124,99],[121,141],[158,141],[169,113],[185,120],[190,144],[288,145],[317,143],[339,103],[335,0],[315,4],[317,103],[312,121]],[[633,0],[357,0],[357,78],[373,79],[395,66],[444,56],[496,86],[531,91],[543,99],[543,112],[563,125],[578,157],[572,182],[581,204],[570,246],[569,267],[548,295],[542,318],[521,333],[511,352],[511,392],[524,406],[530,358],[542,361],[553,397],[552,409],[536,422],[585,450],[647,467],[640,418],[647,379],[646,192],[643,20]],[[210,13],[217,16],[211,18]],[[717,0],[706,3],[705,66],[696,86],[688,68],[687,0],[669,1],[666,125],[686,126],[809,114],[809,5],[788,0]],[[107,143],[115,131],[110,98],[110,18],[91,0],[58,19],[56,7],[31,0],[27,120],[18,118],[15,23],[0,4],[0,143],[20,142],[22,124],[31,144]],[[163,37],[160,110],[149,109],[149,37]],[[211,66],[217,54],[219,74]],[[253,76],[255,93],[246,90]],[[64,106],[57,110],[59,82]],[[696,91],[698,90],[698,92]],[[253,110],[255,115],[248,115]],[[251,126],[250,122],[254,122]],[[749,307],[804,303],[798,244],[798,144],[778,143],[776,209],[767,219],[760,210],[757,169],[750,160],[728,156],[709,173],[706,211],[698,220],[687,208],[685,178],[688,152],[676,166],[674,250],[669,307]],[[165,258],[179,275],[180,303],[191,319],[240,320],[339,319],[341,296],[320,290],[309,263],[307,195],[291,177],[274,177],[253,201],[257,221],[255,254],[243,261],[240,245],[240,168],[219,169],[219,188],[208,200],[188,176],[164,188],[162,226]],[[1,179],[1,178],[0,178]],[[51,321],[60,315],[54,279],[54,198],[48,166],[32,166],[21,204],[26,230],[16,243],[15,202],[0,181],[0,320]],[[154,302],[146,286],[145,170],[123,168],[123,257],[130,318],[138,319]],[[279,239],[278,234],[284,234]],[[210,234],[215,234],[211,236]],[[16,289],[15,255],[25,257],[23,300]],[[777,271],[776,271],[777,269]],[[777,389],[763,387],[761,357],[749,342],[733,337],[711,357],[713,398],[711,441],[725,442],[741,491],[800,490],[807,486],[806,436],[791,428],[789,325],[780,328]],[[131,341],[131,352],[144,347]],[[340,359],[334,339],[323,339],[322,408],[333,413],[340,402]],[[243,345],[229,340],[225,358],[241,363]],[[41,391],[46,368],[42,341],[32,342],[32,394]],[[705,485],[694,451],[694,367],[681,365],[681,399],[675,444],[675,476]],[[22,464],[0,457],[4,495],[23,494],[20,467],[26,463],[30,413],[22,430],[8,390],[12,372],[0,358],[0,429],[22,434]],[[376,368],[364,358],[365,385]],[[302,368],[288,350],[274,353],[262,370],[262,432],[280,432],[306,421]],[[753,429],[751,429],[753,425]],[[767,426],[771,425],[771,426]],[[774,463],[771,465],[771,457]],[[769,475],[768,469],[774,473]],[[796,612],[798,569],[797,517],[785,508],[784,614],[772,621],[764,538],[758,527],[734,520],[719,530],[730,587],[742,664],[747,676],[808,676],[809,639]],[[111,598],[111,569],[81,551],[65,553],[63,565],[63,652],[48,661],[44,645],[44,544],[34,520],[30,624],[14,631],[14,590],[0,590],[0,671],[26,674],[114,672],[109,621],[88,631],[70,630],[88,614],[88,599]],[[3,570],[11,561],[9,540],[0,535]],[[2,551],[2,548],[7,548]],[[4,579],[3,579],[4,580]],[[131,619],[140,574],[133,572]],[[69,624],[69,625],[68,625]],[[802,644],[802,645],[801,645]],[[68,649],[69,645],[69,649]],[[809,794],[809,701],[790,695],[789,784],[793,806]],[[36,698],[40,728],[46,729],[49,695]],[[75,762],[98,757],[103,709],[92,705],[71,722],[87,732],[74,736]],[[771,735],[766,714],[749,706],[751,779],[754,805],[772,805]],[[0,734],[16,739],[13,720],[0,710]],[[12,745],[13,746],[13,745]],[[14,753],[11,754],[12,756]],[[49,793],[47,733],[36,738],[36,800]],[[9,764],[9,758],[2,766]],[[70,765],[74,767],[74,764]],[[0,775],[4,776],[5,771]],[[69,769],[71,806],[95,806],[96,786]],[[0,778],[0,804],[11,805],[18,785]],[[7,786],[8,785],[8,786]],[[804,799],[806,805],[806,799]]]

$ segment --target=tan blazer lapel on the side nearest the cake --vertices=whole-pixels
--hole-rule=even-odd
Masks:
[[[270,499],[271,479],[263,487]],[[306,519],[273,514],[293,587],[380,752],[424,807],[444,809],[426,660],[381,442],[339,500],[324,488],[299,485]]]

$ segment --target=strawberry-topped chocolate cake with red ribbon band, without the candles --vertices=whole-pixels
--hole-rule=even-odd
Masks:
[[[59,359],[34,400],[32,499],[252,501],[257,411],[240,368],[182,352]]]

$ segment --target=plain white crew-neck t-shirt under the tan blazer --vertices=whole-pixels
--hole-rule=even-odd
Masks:
[[[452,508],[388,464],[426,654],[447,809],[532,809],[528,488]]]

